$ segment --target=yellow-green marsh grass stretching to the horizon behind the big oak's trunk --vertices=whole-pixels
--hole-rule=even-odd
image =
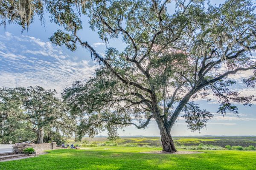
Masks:
[[[190,150],[253,150],[256,147],[256,137],[174,137],[175,145],[180,149]],[[239,141],[239,142],[237,142]],[[81,142],[74,142],[71,139],[68,144],[79,144],[80,147],[97,146],[122,146],[122,147],[161,147],[159,137],[122,137],[116,141],[109,141],[107,138],[84,138]],[[230,145],[230,148],[226,148]]]

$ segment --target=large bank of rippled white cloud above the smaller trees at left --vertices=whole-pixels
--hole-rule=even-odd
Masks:
[[[88,80],[97,68],[35,37],[6,32],[0,36],[0,42],[5,47],[0,49],[1,87],[40,85],[61,92],[78,79]]]

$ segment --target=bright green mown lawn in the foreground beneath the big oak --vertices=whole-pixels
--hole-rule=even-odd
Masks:
[[[140,153],[160,148],[93,148],[51,150],[38,157],[0,162],[0,170],[256,170],[256,151],[207,150],[173,155]]]

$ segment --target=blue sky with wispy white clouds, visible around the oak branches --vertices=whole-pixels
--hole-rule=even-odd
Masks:
[[[220,0],[215,2],[221,3]],[[35,20],[28,33],[22,32],[21,27],[14,24],[7,25],[6,31],[0,27],[0,87],[39,85],[44,88],[55,88],[60,94],[62,89],[70,86],[72,82],[86,81],[94,75],[98,65],[90,59],[88,51],[78,47],[75,52],[71,52],[65,47],[58,47],[49,42],[48,38],[58,26],[50,23],[47,15],[45,19],[45,28],[41,26],[39,20]],[[87,18],[84,18],[83,26],[84,29],[79,35],[93,45],[99,54],[104,55],[105,45],[97,32],[88,28]],[[124,48],[120,39],[110,40],[108,46]],[[256,56],[256,53],[253,53],[253,56]],[[238,81],[233,89],[244,95],[256,94],[255,89],[246,88],[241,83],[242,77],[250,74],[248,71],[229,77]],[[201,108],[215,114],[207,128],[202,129],[201,133],[191,133],[187,130],[184,120],[179,117],[172,129],[172,135],[256,135],[256,103],[252,107],[238,105],[239,117],[233,113],[227,113],[223,117],[216,113],[218,103],[215,98],[212,99],[211,102],[197,101]],[[159,131],[153,120],[145,130],[137,130],[130,126],[124,132],[119,130],[119,134],[159,135]]]

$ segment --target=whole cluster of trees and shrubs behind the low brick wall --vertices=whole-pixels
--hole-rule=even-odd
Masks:
[[[56,95],[39,86],[0,88],[0,143],[65,142],[74,134],[76,120]]]

